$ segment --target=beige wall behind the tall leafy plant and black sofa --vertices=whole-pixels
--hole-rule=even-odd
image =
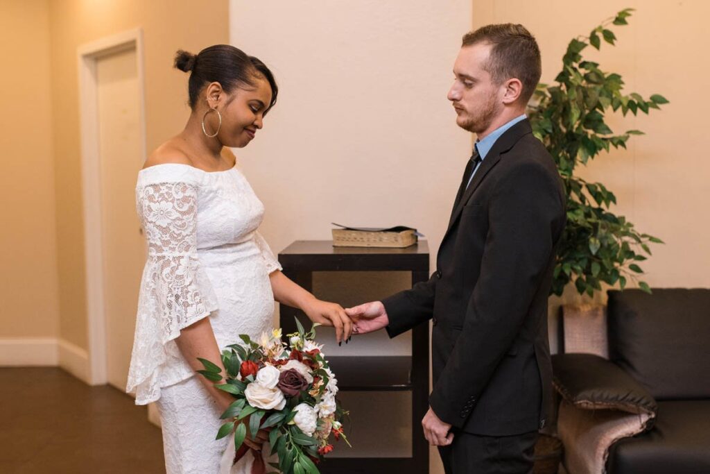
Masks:
[[[627,26],[613,27],[616,46],[584,54],[608,72],[618,72],[628,92],[648,97],[659,93],[670,100],[650,116],[618,114],[609,120],[615,131],[640,129],[628,151],[611,151],[581,170],[587,180],[599,181],[616,193],[614,212],[626,215],[640,232],[663,239],[652,245],[653,256],[643,262],[651,286],[710,287],[710,161],[706,158],[703,125],[710,99],[702,88],[710,66],[698,48],[705,45],[710,4],[706,1],[601,0],[593,3],[545,0],[474,1],[474,28],[486,23],[523,23],[542,50],[542,82],[553,82],[569,40],[586,36],[591,28],[617,11],[637,9]],[[572,290],[568,288],[568,290]],[[605,295],[596,301],[606,300]],[[581,301],[567,291],[562,301]],[[559,298],[552,298],[551,323]],[[552,331],[554,328],[550,328]],[[556,347],[552,339],[553,350]]]

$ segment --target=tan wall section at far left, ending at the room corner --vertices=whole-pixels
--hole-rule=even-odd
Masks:
[[[49,23],[47,0],[0,3],[0,338],[58,333]]]

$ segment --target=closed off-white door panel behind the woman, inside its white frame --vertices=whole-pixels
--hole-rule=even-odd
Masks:
[[[107,378],[126,389],[146,247],[134,189],[143,156],[136,49],[97,58]]]

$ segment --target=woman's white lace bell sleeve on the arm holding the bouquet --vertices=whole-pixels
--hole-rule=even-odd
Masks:
[[[135,390],[136,404],[147,404],[160,398],[161,387],[194,373],[174,339],[217,310],[217,297],[197,257],[197,185],[139,185],[136,205],[148,259],[126,392]]]

